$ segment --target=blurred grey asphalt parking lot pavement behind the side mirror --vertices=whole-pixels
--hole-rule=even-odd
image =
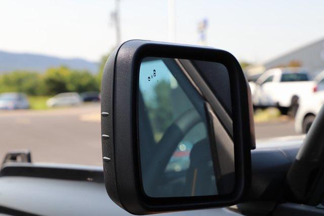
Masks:
[[[295,135],[293,121],[256,124],[256,138]],[[29,149],[35,162],[101,165],[100,105],[0,113],[0,161]]]

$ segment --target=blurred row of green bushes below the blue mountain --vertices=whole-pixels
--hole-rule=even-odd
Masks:
[[[65,66],[49,68],[44,74],[14,71],[0,75],[0,93],[22,92],[30,96],[44,96],[98,90],[97,74]]]

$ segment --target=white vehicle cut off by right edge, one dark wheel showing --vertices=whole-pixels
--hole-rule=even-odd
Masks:
[[[304,95],[298,101],[298,110],[295,117],[295,131],[305,134],[309,131],[315,116],[324,104],[324,71],[314,78],[312,92]]]

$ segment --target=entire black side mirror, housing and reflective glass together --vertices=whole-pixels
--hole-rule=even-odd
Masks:
[[[133,214],[240,202],[255,148],[248,82],[230,53],[130,40],[102,77],[109,197]]]

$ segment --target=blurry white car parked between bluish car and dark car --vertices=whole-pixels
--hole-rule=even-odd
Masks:
[[[48,107],[57,106],[76,106],[82,104],[83,100],[79,94],[75,92],[60,93],[53,98],[47,100]]]

